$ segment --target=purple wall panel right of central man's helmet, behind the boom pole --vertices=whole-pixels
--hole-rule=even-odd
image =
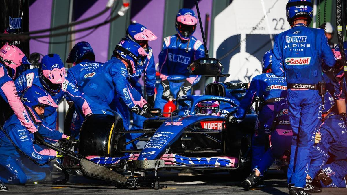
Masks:
[[[192,8],[195,12],[195,14],[197,15],[196,12],[196,8],[195,6]],[[201,20],[202,20],[202,27],[205,28],[205,18],[206,18],[206,13],[210,14],[210,23],[209,23],[209,33],[208,33],[208,37],[210,37],[210,29],[211,29],[211,17],[212,17],[212,0],[200,0],[199,1],[199,10],[200,10],[200,14],[201,14]],[[199,19],[199,18],[198,18]],[[205,29],[204,29],[205,30]],[[200,40],[201,42],[203,42],[202,40],[202,35],[201,35],[201,29],[200,29],[200,24],[199,21],[196,25],[196,31],[194,33],[194,36]],[[209,38],[206,38],[207,41],[207,45],[209,46],[210,41]],[[211,54],[210,54],[211,56]]]

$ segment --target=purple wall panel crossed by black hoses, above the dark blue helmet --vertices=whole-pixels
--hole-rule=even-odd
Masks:
[[[84,14],[78,18],[78,20],[85,19],[87,17],[90,17],[91,15],[94,15],[100,11],[102,11],[105,8],[105,5],[108,0],[98,0],[94,3],[92,7],[90,7],[88,10],[84,12]],[[98,24],[102,21],[104,21],[111,13],[111,10],[106,12],[104,15],[88,21],[86,23],[83,23],[82,25],[77,25],[75,29],[81,29],[88,26],[92,26],[95,24]],[[76,33],[72,39],[78,39],[79,37],[82,37],[86,34],[88,34],[90,31],[85,31],[81,33]],[[80,41],[87,41],[91,44],[94,53],[95,53],[95,60],[100,62],[107,61],[107,54],[108,54],[108,41],[109,41],[109,34],[110,34],[110,24],[100,26],[98,29],[96,29],[92,34],[76,40],[72,43],[72,45],[75,45],[76,43]]]

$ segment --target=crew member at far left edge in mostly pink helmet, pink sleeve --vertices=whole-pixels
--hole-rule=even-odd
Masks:
[[[26,120],[24,118],[24,115],[28,116],[28,113],[18,97],[17,88],[13,82],[13,79],[18,76],[24,64],[29,64],[29,62],[19,48],[9,43],[2,46],[0,49],[0,95],[3,100],[0,100],[0,125],[3,125],[8,117],[10,117],[10,115],[7,116],[10,111],[7,109],[8,106],[6,105],[9,104],[22,124],[31,133],[34,133],[37,131],[37,128],[30,119]],[[6,101],[6,103],[4,101]]]

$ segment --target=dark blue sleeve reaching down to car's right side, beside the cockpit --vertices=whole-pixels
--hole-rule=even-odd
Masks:
[[[256,77],[253,77],[251,84],[249,84],[246,95],[241,100],[240,105],[237,108],[237,112],[235,114],[237,120],[243,120],[245,118],[248,109],[251,108],[253,102],[255,101],[255,98],[257,97],[257,88],[259,88],[259,86],[257,86]]]

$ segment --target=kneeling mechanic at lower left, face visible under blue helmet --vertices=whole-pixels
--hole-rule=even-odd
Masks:
[[[28,88],[21,97],[29,118],[36,128],[40,125],[45,108],[58,108],[52,97],[35,85]],[[43,137],[35,132],[31,134],[15,115],[12,115],[0,132],[0,179],[5,184],[25,184],[27,180],[44,180],[51,166],[37,166],[53,160],[58,152],[42,149],[33,144],[33,140],[43,141]],[[14,146],[15,144],[16,146]],[[28,159],[31,158],[36,163]]]

